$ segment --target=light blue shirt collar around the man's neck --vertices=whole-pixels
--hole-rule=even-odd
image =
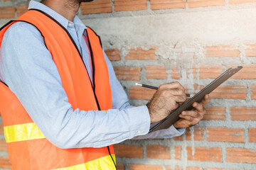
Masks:
[[[31,0],[29,3],[28,9],[31,9],[31,8],[38,9],[40,11],[47,13],[49,16],[55,18],[55,20],[58,21],[58,23],[60,23],[66,29],[68,29],[68,23],[73,23],[75,24],[75,26],[77,26],[80,29],[83,29],[83,30],[86,29],[85,24],[82,23],[82,21],[80,20],[80,18],[78,18],[78,16],[75,16],[73,22],[68,21],[68,19],[65,18],[64,16],[61,16],[60,13],[57,13],[53,9],[49,8],[48,6],[34,0]]]

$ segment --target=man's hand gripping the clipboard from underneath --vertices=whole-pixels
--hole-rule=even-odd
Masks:
[[[196,125],[200,120],[203,119],[203,115],[206,114],[206,104],[209,103],[210,97],[206,95],[201,103],[193,103],[194,111],[183,111],[179,117],[181,118],[174,123],[175,128],[188,128]]]

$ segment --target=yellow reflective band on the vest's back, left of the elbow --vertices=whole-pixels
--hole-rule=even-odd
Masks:
[[[5,126],[4,136],[7,143],[46,138],[38,129],[36,123]]]

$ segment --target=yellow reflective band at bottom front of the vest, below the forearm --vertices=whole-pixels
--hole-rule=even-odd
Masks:
[[[114,164],[116,162],[114,154],[111,154],[112,158],[114,159],[114,163],[110,157],[110,155],[106,157],[101,157],[99,159],[95,159],[90,162],[86,162],[85,164],[78,164],[75,166],[70,166],[67,168],[61,168],[61,169],[52,169],[52,170],[91,170],[91,169],[97,169],[97,170],[114,170],[116,169]]]

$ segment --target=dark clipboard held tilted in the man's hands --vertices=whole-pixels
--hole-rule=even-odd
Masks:
[[[180,115],[182,111],[191,110],[193,108],[192,104],[194,102],[200,103],[203,100],[204,96],[206,96],[206,94],[210,94],[210,92],[212,92],[214,89],[216,89],[218,86],[220,86],[220,84],[223,84],[224,81],[228,80],[230,77],[232,77],[238,71],[240,71],[240,69],[242,69],[242,66],[230,68],[230,69],[226,70],[217,79],[215,79],[210,84],[208,84],[208,86],[203,88],[203,90],[199,91],[198,94],[196,94],[195,96],[190,98],[188,101],[186,101],[186,103],[183,103],[182,106],[176,108],[176,110],[173,111],[166,118],[164,118],[164,120],[161,120],[159,123],[154,125],[154,127],[152,127],[149,130],[149,132],[166,129],[166,128],[169,128],[171,125],[174,125],[174,123],[176,123],[176,121],[178,119],[180,119],[178,115]]]

